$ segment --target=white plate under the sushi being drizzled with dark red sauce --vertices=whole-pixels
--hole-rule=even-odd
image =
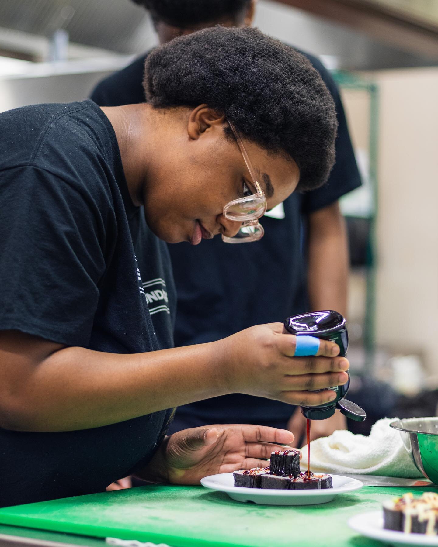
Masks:
[[[242,488],[234,486],[233,473],[220,473],[201,479],[201,485],[212,490],[226,492],[238,502],[254,502],[263,505],[316,505],[331,502],[338,494],[362,488],[360,480],[341,475],[331,475],[333,488],[323,490],[273,490],[270,488]]]

